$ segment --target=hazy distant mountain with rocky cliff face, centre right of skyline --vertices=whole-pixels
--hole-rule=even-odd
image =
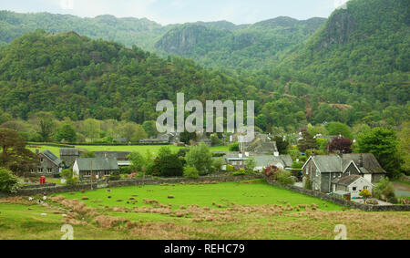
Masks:
[[[207,67],[257,69],[276,65],[280,54],[312,36],[324,21],[278,17],[247,26],[186,24],[169,29],[155,46]]]

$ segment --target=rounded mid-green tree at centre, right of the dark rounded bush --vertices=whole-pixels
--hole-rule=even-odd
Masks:
[[[199,146],[192,147],[185,157],[187,165],[196,168],[200,175],[210,173],[212,167],[212,153],[208,146],[201,142]]]

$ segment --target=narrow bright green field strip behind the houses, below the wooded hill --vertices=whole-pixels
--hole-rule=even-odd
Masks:
[[[53,147],[53,146],[45,146],[45,145],[38,145],[37,147],[40,147],[39,150],[40,152],[45,151],[45,150],[50,150],[53,152],[57,157],[60,156],[60,150],[58,147]],[[140,153],[145,153],[147,150],[153,152],[153,153],[158,153],[159,149],[164,146],[159,146],[159,145],[133,145],[133,146],[87,146],[87,145],[77,145],[76,148],[82,149],[82,150],[88,150],[88,151],[138,151]],[[174,145],[167,145],[166,147],[169,147],[173,151],[178,151],[179,149],[183,149],[183,147],[177,147]],[[36,148],[29,148],[29,150],[35,152]],[[211,151],[228,151],[228,147],[225,146],[218,146],[218,147],[211,147]]]

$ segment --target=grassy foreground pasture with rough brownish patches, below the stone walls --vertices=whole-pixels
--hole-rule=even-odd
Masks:
[[[171,197],[171,198],[169,198]],[[169,184],[56,194],[48,207],[0,200],[0,239],[408,239],[409,212],[344,211],[264,181]],[[67,217],[59,208],[69,209]],[[32,209],[32,210],[28,210]],[[46,212],[47,216],[40,216]]]

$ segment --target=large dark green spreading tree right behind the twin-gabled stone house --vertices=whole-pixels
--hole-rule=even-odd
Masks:
[[[354,152],[373,153],[390,178],[400,175],[403,160],[398,152],[399,141],[393,129],[374,128],[359,135]]]

